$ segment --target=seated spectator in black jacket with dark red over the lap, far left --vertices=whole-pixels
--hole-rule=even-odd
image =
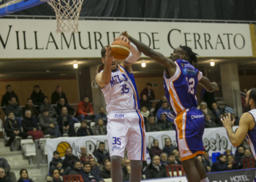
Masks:
[[[31,135],[33,141],[44,138],[44,134],[39,130],[39,125],[37,124],[36,119],[31,117],[30,110],[25,111],[25,116],[23,117],[21,123],[24,132],[26,132],[27,135]]]

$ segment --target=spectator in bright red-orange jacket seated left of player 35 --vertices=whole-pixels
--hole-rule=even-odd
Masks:
[[[89,103],[89,97],[84,96],[83,100],[78,103],[78,120],[83,121],[84,119],[93,119],[94,116],[94,109]]]

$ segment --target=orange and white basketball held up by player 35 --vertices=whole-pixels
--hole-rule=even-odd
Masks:
[[[115,60],[125,60],[129,56],[129,44],[126,41],[116,40],[111,44],[111,55]]]

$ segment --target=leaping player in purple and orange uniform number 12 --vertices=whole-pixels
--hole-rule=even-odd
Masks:
[[[203,112],[197,110],[195,96],[197,84],[208,92],[219,90],[215,82],[210,82],[198,71],[197,54],[187,46],[177,47],[170,54],[170,59],[159,52],[151,50],[146,44],[132,38],[127,32],[122,33],[138,47],[144,55],[156,60],[164,68],[165,97],[169,100],[176,114],[174,125],[176,140],[181,154],[181,163],[189,182],[208,182],[206,170],[197,159],[197,154],[204,154],[203,131],[205,119]]]

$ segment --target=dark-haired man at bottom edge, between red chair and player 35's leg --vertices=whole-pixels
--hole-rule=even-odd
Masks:
[[[83,164],[83,169],[80,170],[80,175],[82,175],[83,181],[85,182],[104,182],[102,178],[99,178],[99,175],[91,170],[90,162],[86,162]]]

